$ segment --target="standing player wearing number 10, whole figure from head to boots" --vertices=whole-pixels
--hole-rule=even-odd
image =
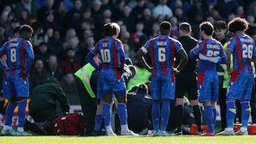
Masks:
[[[116,39],[119,31],[116,31],[112,23],[106,23],[103,28],[104,39],[100,40],[88,53],[86,59],[99,71],[99,78],[104,97],[103,116],[106,127],[106,135],[116,135],[111,128],[111,103],[112,93],[118,99],[118,116],[121,124],[121,135],[137,135],[127,126],[126,88],[122,76],[125,65],[125,52],[123,43]],[[115,36],[114,36],[115,35]],[[99,56],[101,67],[93,57]]]

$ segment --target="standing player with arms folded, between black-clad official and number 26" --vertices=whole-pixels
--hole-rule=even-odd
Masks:
[[[199,102],[203,103],[204,115],[208,124],[208,132],[202,136],[214,136],[216,121],[216,102],[219,96],[219,78],[216,64],[227,63],[227,56],[221,42],[213,39],[214,26],[210,22],[200,24],[202,41],[189,52],[189,59],[199,55],[198,66],[198,95]]]

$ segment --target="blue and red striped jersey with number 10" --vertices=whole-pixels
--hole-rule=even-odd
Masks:
[[[95,47],[93,47],[91,52],[99,56],[100,66],[108,69],[122,66],[118,50],[124,52],[122,41],[112,37],[106,37],[100,40]]]

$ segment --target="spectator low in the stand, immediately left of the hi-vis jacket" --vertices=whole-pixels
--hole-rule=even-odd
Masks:
[[[68,96],[75,96],[77,95],[77,89],[74,82],[74,74],[67,73],[62,79],[61,79],[61,88]]]

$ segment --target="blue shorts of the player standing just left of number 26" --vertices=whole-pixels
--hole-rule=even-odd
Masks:
[[[198,73],[197,95],[199,102],[218,101],[219,78],[217,72],[204,71]]]

